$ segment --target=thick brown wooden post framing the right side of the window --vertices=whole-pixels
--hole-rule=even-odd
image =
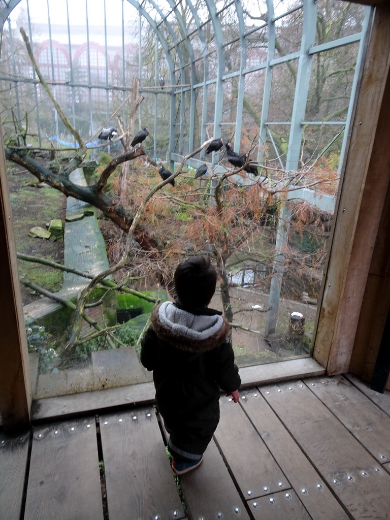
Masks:
[[[390,5],[378,5],[335,211],[314,357],[328,374],[349,369],[390,181]]]

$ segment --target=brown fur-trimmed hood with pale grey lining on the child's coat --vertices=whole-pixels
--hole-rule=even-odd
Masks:
[[[155,307],[151,322],[161,340],[189,352],[200,353],[217,348],[226,341],[230,332],[228,321],[219,314],[194,315],[172,302]]]

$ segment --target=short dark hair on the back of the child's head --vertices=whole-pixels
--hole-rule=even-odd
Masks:
[[[217,272],[206,256],[191,256],[181,262],[174,274],[175,289],[186,307],[209,305],[217,284]]]

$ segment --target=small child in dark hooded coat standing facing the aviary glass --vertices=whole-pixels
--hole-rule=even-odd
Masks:
[[[142,340],[141,363],[153,370],[156,400],[166,430],[172,471],[198,467],[219,422],[219,392],[234,402],[241,384],[229,340],[230,326],[209,309],[217,273],[204,256],[181,262],[175,271],[175,303],[152,313]]]

